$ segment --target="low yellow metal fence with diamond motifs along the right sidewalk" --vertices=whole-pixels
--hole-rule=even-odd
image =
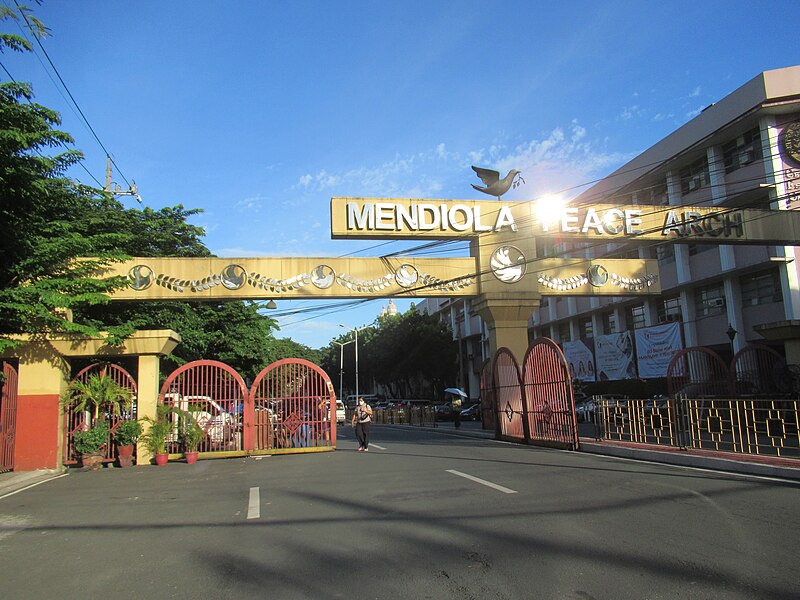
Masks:
[[[600,440],[800,458],[796,399],[595,397]]]

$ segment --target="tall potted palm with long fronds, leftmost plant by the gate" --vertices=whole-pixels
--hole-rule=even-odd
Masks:
[[[81,455],[84,467],[97,470],[105,458],[104,446],[108,444],[106,416],[119,416],[130,410],[133,403],[131,390],[102,373],[91,375],[86,381],[75,380],[69,384],[61,398],[65,411],[85,413],[83,430],[73,436],[75,452]]]

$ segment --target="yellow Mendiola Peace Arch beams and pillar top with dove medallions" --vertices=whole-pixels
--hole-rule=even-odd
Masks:
[[[134,258],[110,274],[115,300],[474,297],[492,353],[521,359],[542,296],[653,295],[658,262],[538,258],[536,238],[796,245],[800,215],[729,207],[587,205],[406,198],[331,199],[334,239],[467,238],[463,258]]]

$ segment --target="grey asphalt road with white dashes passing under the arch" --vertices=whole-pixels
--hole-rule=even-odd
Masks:
[[[800,486],[376,427],[0,500],[3,598],[797,598]]]

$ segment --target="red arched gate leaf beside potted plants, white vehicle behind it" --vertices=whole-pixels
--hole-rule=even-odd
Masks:
[[[167,452],[182,452],[181,411],[192,413],[205,430],[200,452],[243,451],[245,431],[249,429],[244,427],[248,398],[242,376],[223,362],[196,360],[178,367],[167,377],[158,396],[159,403],[178,409],[170,416],[173,427]]]

